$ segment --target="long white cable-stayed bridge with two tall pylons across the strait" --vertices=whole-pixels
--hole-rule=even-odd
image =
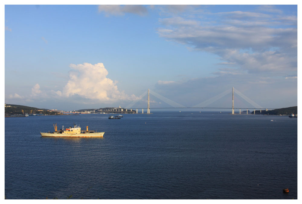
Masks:
[[[243,98],[246,102],[248,102],[252,107],[249,108],[244,108],[244,107],[234,107],[234,92],[239,95],[241,98]],[[214,103],[215,101],[221,99],[222,97],[226,96],[227,94],[232,93],[232,107],[230,108],[222,108],[222,107],[208,107],[210,104]],[[220,93],[210,99],[207,99],[204,102],[198,103],[192,107],[185,107],[184,105],[181,105],[175,101],[172,101],[170,99],[167,99],[166,97],[155,93],[152,90],[147,90],[145,91],[142,95],[140,95],[138,97],[137,100],[131,102],[129,105],[126,106],[127,109],[136,109],[136,113],[138,113],[138,109],[142,109],[142,113],[144,113],[144,108],[136,108],[134,105],[139,102],[140,100],[143,99],[144,96],[146,96],[148,94],[148,103],[147,103],[147,113],[150,113],[150,109],[162,109],[162,108],[151,108],[150,107],[150,100],[149,100],[149,94],[152,94],[153,96],[155,96],[156,98],[162,100],[163,102],[167,103],[168,105],[172,106],[172,107],[167,107],[167,108],[219,108],[219,109],[232,109],[232,114],[234,114],[234,109],[239,109],[239,114],[241,114],[241,109],[246,109],[246,114],[248,114],[248,109],[254,109],[254,114],[255,114],[255,110],[268,110],[268,109],[276,109],[276,108],[263,108],[262,106],[260,106],[259,104],[257,104],[256,102],[254,102],[252,99],[249,99],[247,96],[245,96],[243,93],[239,92],[237,89],[235,89],[234,87],[231,89],[228,89],[226,91],[224,91],[223,93]]]

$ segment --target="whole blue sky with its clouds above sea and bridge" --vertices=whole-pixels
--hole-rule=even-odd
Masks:
[[[297,105],[297,5],[5,5],[6,104],[146,108],[150,89],[193,107],[232,87]]]

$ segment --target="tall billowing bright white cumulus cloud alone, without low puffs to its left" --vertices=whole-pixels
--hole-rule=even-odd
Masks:
[[[128,96],[117,88],[117,82],[107,78],[108,71],[103,63],[98,64],[70,64],[69,78],[63,93],[66,97],[79,96],[86,99],[113,102],[116,100],[132,100],[134,95]]]

